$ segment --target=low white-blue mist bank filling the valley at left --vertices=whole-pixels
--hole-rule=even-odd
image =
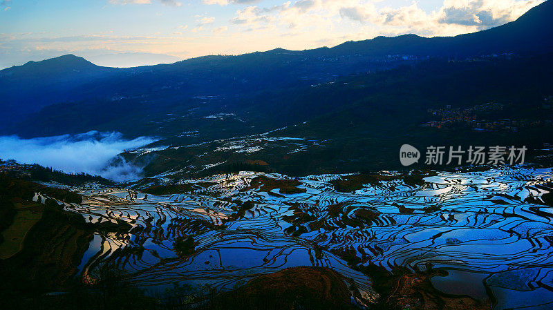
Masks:
[[[118,154],[155,141],[152,137],[129,140],[121,133],[97,131],[32,139],[12,135],[0,137],[0,158],[15,159],[21,164],[40,164],[66,173],[101,175],[122,182],[140,177],[142,168],[126,162]]]

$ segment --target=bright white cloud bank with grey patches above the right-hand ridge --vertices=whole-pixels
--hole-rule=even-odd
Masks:
[[[288,29],[287,35],[323,35],[342,31],[349,39],[371,35],[449,36],[474,32],[513,21],[543,0],[444,0],[441,7],[427,12],[413,1],[409,6],[377,9],[376,0],[299,0],[262,8],[237,10],[232,23],[248,30]],[[382,3],[380,3],[382,5]],[[357,23],[357,26],[347,24]],[[352,31],[352,26],[356,27]]]

